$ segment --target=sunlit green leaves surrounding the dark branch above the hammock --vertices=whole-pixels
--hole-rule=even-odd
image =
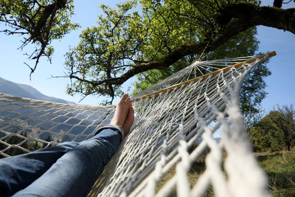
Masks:
[[[258,4],[255,0],[228,1],[239,2]],[[140,3],[142,15],[131,11],[137,6],[136,0],[120,3],[117,9],[100,6],[105,17],[99,16],[97,27],[87,28],[80,35],[78,46],[70,48],[66,54],[67,76],[71,79],[67,88],[69,94],[109,96],[111,100],[107,103],[111,103],[114,97],[122,94],[120,85],[130,77],[149,70],[139,79],[152,78],[153,74],[156,80],[159,80],[156,75],[164,78],[200,56],[207,44],[211,59],[253,55],[257,50],[255,28],[219,40],[220,33],[227,29],[216,23],[216,17],[218,10],[227,3],[219,4],[214,0],[206,3],[141,0]],[[211,43],[216,45],[211,46]],[[190,49],[192,47],[198,50]],[[149,86],[150,82],[146,82],[141,89]]]

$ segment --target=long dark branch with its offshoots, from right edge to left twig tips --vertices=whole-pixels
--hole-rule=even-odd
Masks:
[[[194,1],[194,0],[190,0]],[[215,1],[217,2],[217,1]],[[221,5],[219,5],[220,7]],[[175,64],[178,60],[180,60],[183,57],[186,57],[188,55],[195,55],[195,54],[201,54],[203,52],[209,53],[212,51],[215,51],[218,47],[222,46],[229,40],[231,40],[234,36],[236,36],[239,33],[242,33],[250,28],[253,28],[258,25],[263,25],[267,27],[273,27],[276,29],[281,29],[284,31],[289,31],[291,33],[295,34],[295,8],[290,9],[280,9],[276,7],[266,7],[266,6],[256,6],[253,4],[246,4],[246,3],[238,3],[238,4],[230,4],[225,7],[220,7],[219,10],[220,14],[212,18],[212,28],[213,33],[216,33],[217,36],[214,34],[212,36],[207,36],[207,38],[204,40],[204,38],[201,39],[199,42],[195,43],[188,43],[183,44],[180,47],[176,48],[175,50],[168,51],[163,58],[160,60],[154,61],[153,58],[149,58],[149,62],[143,62],[143,61],[136,61],[134,60],[132,56],[129,56],[129,52],[126,51],[126,46],[122,49],[124,53],[127,53],[127,57],[123,54],[121,58],[123,59],[129,59],[135,63],[134,66],[128,66],[128,70],[125,71],[123,69],[122,75],[119,77],[116,77],[116,75],[111,75],[110,70],[105,71],[106,76],[103,75],[101,78],[95,78],[95,79],[88,79],[87,77],[84,77],[85,73],[81,74],[82,77],[77,75],[73,72],[73,67],[75,66],[75,63],[72,62],[69,66],[69,78],[70,79],[76,79],[79,82],[89,84],[93,87],[101,87],[101,89],[105,88],[108,90],[100,90],[101,92],[98,92],[101,95],[108,94],[112,98],[114,97],[114,90],[116,87],[122,85],[125,81],[130,79],[131,77],[135,76],[136,74],[151,70],[151,69],[165,69],[169,66]],[[150,23],[150,19],[148,16],[148,11],[146,11],[147,15],[147,25],[151,29],[151,32],[155,33],[154,36],[159,38],[159,50],[157,51],[154,49],[156,57],[157,53],[159,53],[162,50],[162,47],[165,48],[165,39],[162,39],[162,37],[157,34],[155,31],[153,31],[152,25]],[[210,21],[209,21],[210,22]],[[209,31],[209,30],[208,30]],[[126,38],[129,41],[129,38]],[[183,43],[183,42],[182,42]],[[185,43],[185,42],[184,42]],[[157,45],[157,46],[158,46]],[[179,46],[179,45],[178,45]],[[207,48],[206,48],[207,46]],[[134,49],[135,50],[135,49]],[[161,56],[163,55],[161,54]],[[146,61],[146,60],[144,60]],[[124,65],[123,63],[123,66]],[[114,67],[111,66],[110,62],[107,69],[114,69]],[[91,78],[91,77],[90,77]],[[75,91],[73,91],[75,92]],[[111,93],[111,94],[110,94]]]

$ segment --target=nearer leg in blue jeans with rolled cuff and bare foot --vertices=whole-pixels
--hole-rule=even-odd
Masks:
[[[130,99],[125,97],[119,101],[111,124],[113,129],[103,129],[89,140],[81,142],[76,148],[64,154],[40,178],[26,189],[19,191],[15,197],[81,197],[86,196],[89,188],[102,173],[104,166],[110,161],[118,148],[129,114]],[[123,100],[123,101],[122,101]],[[127,111],[127,112],[126,112]],[[132,118],[130,116],[130,118]],[[128,118],[128,120],[130,120]],[[121,121],[123,119],[124,121]],[[133,117],[134,121],[134,117]],[[133,122],[132,122],[133,123]],[[120,128],[120,129],[118,129]],[[128,134],[128,132],[125,132]]]

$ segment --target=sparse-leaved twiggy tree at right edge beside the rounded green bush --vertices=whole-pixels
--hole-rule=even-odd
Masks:
[[[284,132],[286,149],[291,150],[295,144],[295,110],[293,105],[277,105],[269,112],[270,119]]]

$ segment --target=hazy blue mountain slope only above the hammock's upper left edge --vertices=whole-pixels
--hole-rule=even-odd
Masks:
[[[48,97],[43,95],[35,88],[26,85],[26,84],[18,84],[0,77],[0,93],[4,93],[7,95],[12,95],[16,97],[24,97],[29,99],[37,99],[37,100],[45,100],[51,102],[59,102],[59,103],[66,103],[66,104],[76,104],[75,102],[58,99],[54,97]]]

